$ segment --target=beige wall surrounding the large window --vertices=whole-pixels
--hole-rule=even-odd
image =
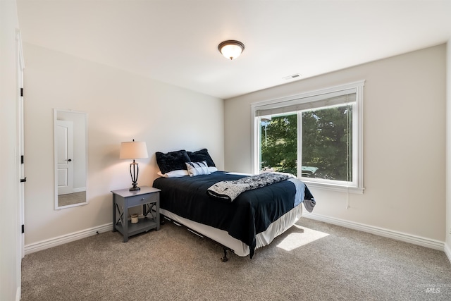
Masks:
[[[313,190],[314,214],[445,241],[445,59],[440,45],[225,102],[226,169],[251,171],[250,104],[366,80],[363,195]]]

